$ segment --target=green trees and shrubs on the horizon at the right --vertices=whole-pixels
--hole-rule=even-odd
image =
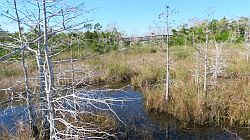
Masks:
[[[170,45],[193,45],[194,42],[205,42],[205,30],[210,31],[210,39],[217,42],[241,43],[247,41],[245,34],[248,32],[249,19],[241,17],[238,20],[230,21],[225,17],[221,20],[201,21],[195,25],[183,25],[179,30],[172,30]]]

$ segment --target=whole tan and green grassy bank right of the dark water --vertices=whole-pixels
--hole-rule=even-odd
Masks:
[[[196,124],[240,124],[250,121],[250,65],[241,55],[241,46],[227,46],[226,66],[210,84],[207,95],[202,91],[203,78],[195,82],[195,50],[184,46],[171,48],[171,99],[165,101],[165,58],[164,49],[157,46],[133,48],[126,54],[113,52],[90,60],[87,63],[103,73],[111,81],[130,80],[134,87],[140,87],[145,97],[145,106],[174,115],[188,123]],[[209,56],[213,63],[214,48]],[[202,69],[201,69],[202,71]],[[209,80],[213,82],[211,75]],[[197,91],[199,88],[199,92]]]

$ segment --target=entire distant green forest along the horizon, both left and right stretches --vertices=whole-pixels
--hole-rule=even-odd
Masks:
[[[123,37],[123,34],[118,31],[116,27],[109,30],[103,30],[102,26],[97,24],[86,24],[86,31],[82,32],[63,32],[53,34],[53,29],[50,29],[50,33],[53,37],[49,37],[51,42],[60,42],[61,45],[57,45],[54,50],[64,49],[66,45],[63,45],[62,40],[67,41],[66,38],[75,40],[72,44],[72,48],[81,46],[88,51],[97,52],[100,54],[110,52],[112,50],[118,50],[119,41]],[[247,17],[241,17],[237,20],[228,20],[225,17],[211,21],[201,21],[194,25],[184,24],[178,29],[172,29],[172,37],[169,41],[170,46],[174,45],[193,45],[194,42],[204,42],[206,39],[206,32],[209,32],[209,39],[217,42],[228,43],[243,43],[249,42],[250,38],[250,19]],[[36,27],[25,32],[28,37],[27,40],[32,40],[36,37]],[[11,36],[11,37],[10,37]],[[13,37],[17,38],[18,33],[10,33],[4,30],[0,30],[0,41],[11,43]],[[126,44],[126,42],[125,42]],[[58,47],[59,46],[59,47]],[[125,47],[128,45],[124,45]],[[34,44],[33,47],[36,47]],[[72,49],[71,48],[71,49]],[[53,50],[52,50],[53,51]],[[9,51],[0,48],[0,56],[7,54]]]

